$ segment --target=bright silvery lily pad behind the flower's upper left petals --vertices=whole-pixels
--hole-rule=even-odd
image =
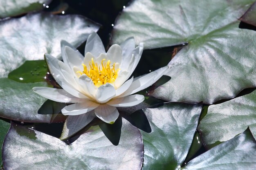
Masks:
[[[0,22],[0,77],[44,54],[61,57],[61,40],[77,47],[99,24],[81,15],[28,14]]]

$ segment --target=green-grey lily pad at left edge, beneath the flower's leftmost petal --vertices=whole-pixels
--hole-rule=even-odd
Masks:
[[[19,83],[0,78],[0,117],[16,121],[50,123],[51,114],[37,113],[47,99],[32,91],[35,86],[47,86],[47,83]]]

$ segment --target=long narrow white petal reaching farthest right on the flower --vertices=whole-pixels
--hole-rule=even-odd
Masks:
[[[128,90],[126,92],[124,92],[122,95],[120,95],[119,97],[131,95],[133,93],[143,90],[144,88],[147,88],[148,86],[151,86],[160,77],[162,77],[162,75],[165,73],[167,68],[168,68],[168,66],[165,66],[165,67],[157,69],[156,71],[148,73],[147,75],[139,77],[134,82],[132,82],[132,84],[130,85]]]

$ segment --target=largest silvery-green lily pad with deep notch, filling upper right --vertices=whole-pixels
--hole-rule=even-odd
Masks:
[[[256,86],[256,32],[237,20],[253,2],[135,0],[117,19],[112,43],[130,36],[145,48],[188,42],[168,64],[171,80],[151,95],[213,104]]]

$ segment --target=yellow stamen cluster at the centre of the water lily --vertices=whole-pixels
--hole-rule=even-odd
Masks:
[[[119,69],[115,70],[115,64],[110,66],[110,60],[106,62],[106,59],[101,60],[101,66],[97,63],[94,63],[93,58],[90,61],[90,69],[87,68],[85,64],[83,65],[83,73],[81,71],[77,71],[76,73],[86,74],[88,77],[92,79],[92,82],[95,86],[99,87],[106,83],[113,83],[117,78],[117,72]]]

